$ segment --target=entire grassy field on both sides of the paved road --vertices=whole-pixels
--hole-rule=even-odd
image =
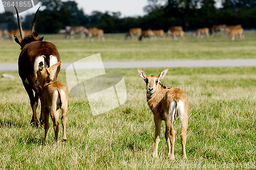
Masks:
[[[101,54],[103,61],[138,61],[255,58],[252,49],[256,37],[253,36],[252,33],[245,35],[243,41],[187,37],[176,42],[170,39],[137,42],[124,41],[121,35],[106,35],[106,42],[92,43],[80,39],[68,43],[59,36],[46,36],[46,40],[56,44],[63,62],[96,53]],[[12,44],[12,48],[8,44]],[[18,48],[17,44],[1,42],[0,46],[1,63],[17,62],[19,51],[12,51]],[[147,75],[158,75],[163,69],[143,70]],[[54,144],[51,121],[48,140],[44,139],[44,130],[29,125],[32,111],[17,72],[0,72],[0,75],[15,76],[14,80],[0,79],[0,169],[256,167],[256,67],[170,68],[162,83],[182,88],[189,102],[188,158],[182,159],[180,120],[177,119],[175,161],[167,158],[164,123],[159,158],[152,158],[153,114],[147,107],[144,81],[137,70],[108,69],[106,72],[119,72],[124,76],[126,102],[110,112],[93,116],[85,98],[69,95],[68,139],[67,143],[58,145]],[[67,84],[64,70],[60,71],[58,80]],[[60,126],[59,140],[61,129]]]

